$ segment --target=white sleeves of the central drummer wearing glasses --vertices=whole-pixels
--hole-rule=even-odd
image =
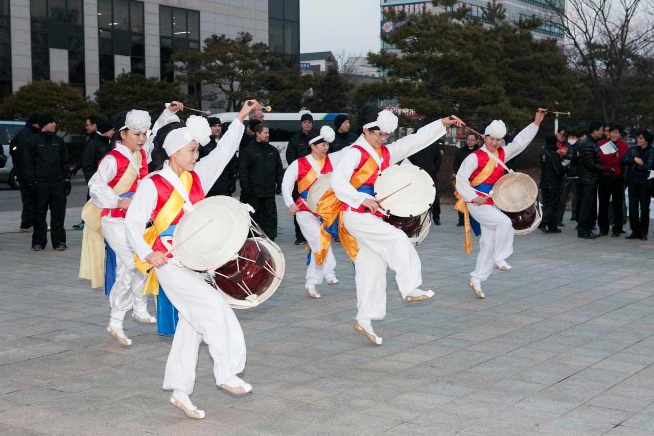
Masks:
[[[398,139],[397,141],[388,144],[386,147],[390,155],[390,162],[388,162],[389,166],[401,162],[407,156],[411,156],[411,154],[421,151],[443,135],[445,135],[445,126],[443,126],[441,120],[436,120],[419,128],[415,134],[405,136],[402,139]],[[353,145],[360,145],[364,148],[373,148],[368,144],[368,141],[366,141],[363,135],[354,141]],[[375,156],[377,156],[377,154],[375,154]],[[359,208],[366,198],[372,198],[374,200],[373,196],[364,192],[356,191],[350,183],[354,170],[360,161],[361,152],[354,147],[350,147],[345,151],[340,162],[334,168],[330,180],[330,186],[332,187],[332,190],[334,190],[336,198],[349,205],[351,208]]]

